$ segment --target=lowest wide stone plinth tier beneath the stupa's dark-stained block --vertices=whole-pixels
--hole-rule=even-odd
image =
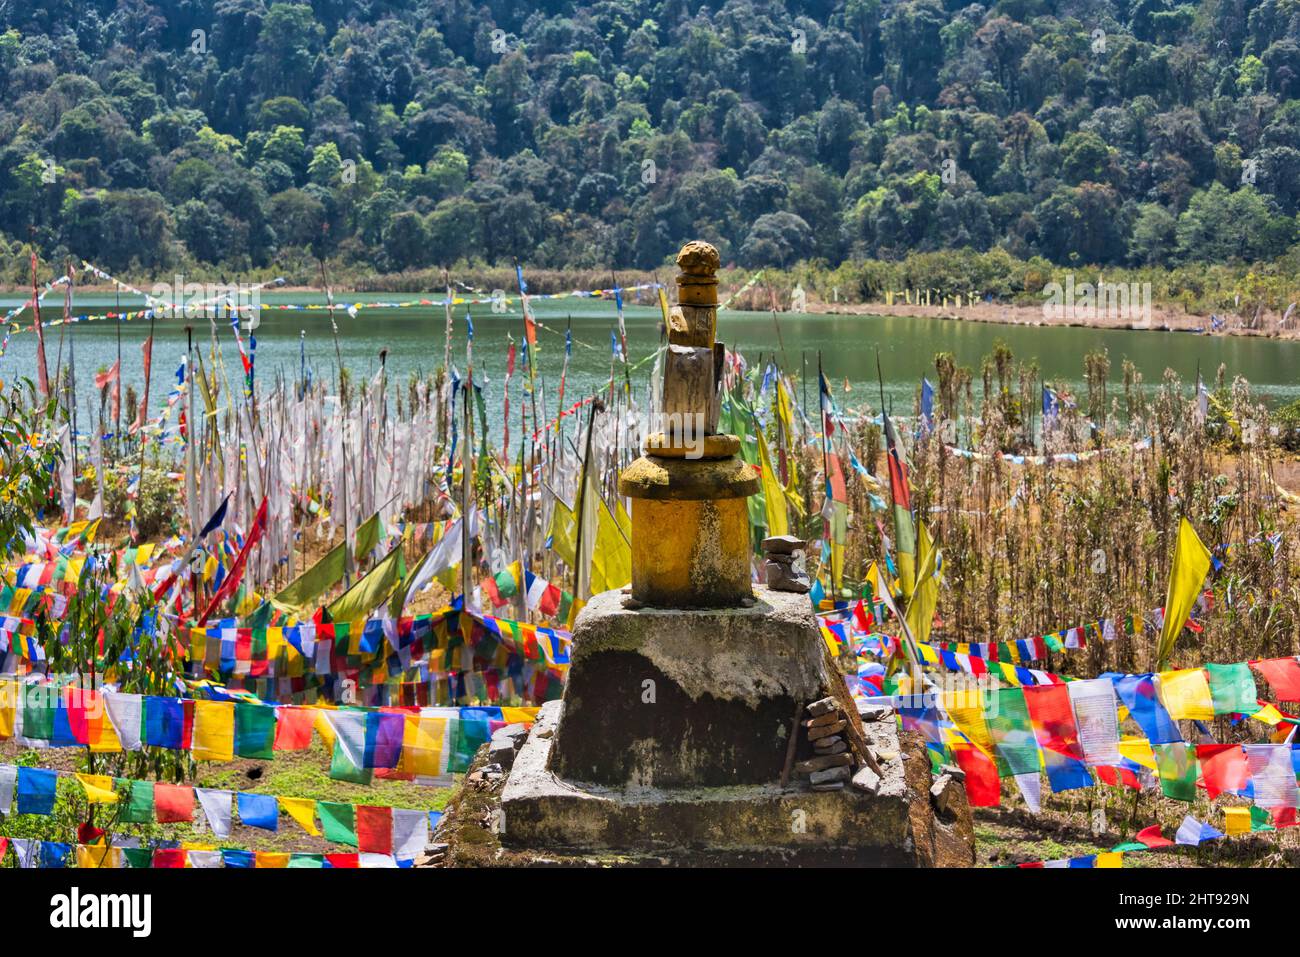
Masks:
[[[896,755],[881,768],[875,794],[845,781],[788,788],[610,788],[560,780],[547,770],[552,732],[563,710],[559,701],[542,706],[533,733],[515,759],[502,793],[503,833],[474,828],[473,844],[462,850],[455,843],[448,861],[456,866],[581,866],[592,863],[590,856],[597,854],[606,865],[974,862],[968,814],[968,845],[962,844],[956,826],[935,824],[926,794],[930,763],[924,741],[911,733],[906,750],[910,759],[898,759],[900,737],[893,723],[866,729],[878,752],[892,750]],[[923,783],[919,791],[916,781]],[[790,827],[794,814],[803,824],[797,830]]]

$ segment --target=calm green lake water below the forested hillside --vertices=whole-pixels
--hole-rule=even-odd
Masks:
[[[62,312],[62,300],[51,294],[42,306],[42,315],[53,319]],[[441,294],[352,294],[348,302],[394,302],[437,299]],[[5,309],[21,302],[20,296],[0,298]],[[322,303],[324,296],[309,293],[265,294],[264,307],[282,303]],[[74,315],[103,313],[114,309],[112,295],[87,294],[77,296]],[[566,385],[566,404],[593,390],[604,391],[610,377],[610,332],[616,328],[612,302],[590,298],[534,300],[534,312],[545,326],[538,332],[538,354],[534,367],[545,378],[547,410],[555,412],[555,391],[564,358],[564,326],[572,317],[573,355]],[[121,309],[140,308],[138,299],[124,296]],[[495,315],[490,306],[471,307],[474,325],[474,376],[482,382],[486,374],[490,410],[500,408],[502,381],[506,371],[507,337],[523,339],[523,319],[517,303],[512,312]],[[412,373],[430,373],[442,363],[445,313],[441,307],[372,308],[361,309],[356,317],[343,308],[337,311],[339,347],[343,363],[356,376],[370,376],[378,369],[380,350],[387,348],[390,380],[404,382]],[[632,363],[641,363],[659,343],[659,309],[654,306],[629,304],[627,311],[628,350]],[[10,381],[17,376],[35,378],[35,335],[30,329],[31,312],[25,311],[21,321],[26,328],[12,337],[4,356],[0,356],[0,378]],[[209,342],[209,321],[198,320],[196,342],[203,343],[204,356]],[[74,337],[78,404],[87,408],[94,393],[92,374],[107,368],[117,358],[118,325],[121,326],[121,355],[124,390],[134,385],[143,390],[144,374],[140,343],[148,335],[148,321],[130,322],[94,321],[75,326],[46,330],[46,352],[51,374],[62,356],[66,363],[68,343]],[[231,381],[239,372],[239,356],[226,321],[218,321],[218,343],[222,350],[226,374]],[[318,378],[335,378],[334,341],[325,311],[280,311],[264,308],[261,326],[256,332],[256,378],[263,389],[270,387],[277,373],[292,378],[300,363],[300,334],[306,330],[302,348],[306,363]],[[72,332],[72,335],[69,335]],[[1206,381],[1213,381],[1221,363],[1227,365],[1228,377],[1245,376],[1257,394],[1270,404],[1290,402],[1300,397],[1300,342],[1249,337],[1209,337],[1188,333],[1161,333],[1136,330],[1093,330],[1078,328],[1043,328],[997,325],[991,322],[962,322],[939,319],[896,316],[812,316],[781,313],[774,321],[771,313],[724,311],[718,321],[719,338],[732,348],[740,348],[753,363],[759,354],[774,354],[784,368],[796,374],[807,364],[809,397],[815,403],[815,373],[818,352],[823,368],[841,407],[854,408],[861,403],[879,403],[876,385],[876,350],[884,373],[885,393],[900,412],[910,412],[913,397],[922,376],[935,381],[933,356],[949,351],[957,361],[968,365],[979,376],[979,363],[998,339],[1006,342],[1018,359],[1035,359],[1043,377],[1066,385],[1072,393],[1083,391],[1083,356],[1089,351],[1106,348],[1110,352],[1112,378],[1121,382],[1123,359],[1131,360],[1143,373],[1148,385],[1160,381],[1166,365],[1174,368],[1184,382],[1195,381],[1197,363]],[[60,343],[62,351],[60,352]],[[173,373],[185,354],[185,321],[157,320],[153,348],[153,384],[151,386],[151,412],[174,384]],[[465,367],[465,307],[458,307],[452,339],[452,356],[464,373]],[[634,384],[638,397],[649,378],[651,363],[636,368]],[[621,367],[616,371],[621,378]],[[845,394],[848,378],[852,391]],[[511,385],[512,412],[517,415],[521,386],[526,369],[516,368]]]

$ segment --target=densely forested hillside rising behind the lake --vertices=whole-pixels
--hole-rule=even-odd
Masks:
[[[1300,0],[0,4],[0,267],[788,265],[1297,235]]]

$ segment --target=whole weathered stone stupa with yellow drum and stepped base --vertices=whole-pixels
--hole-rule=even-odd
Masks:
[[[563,700],[506,780],[502,841],[688,863],[971,863],[965,792],[932,801],[919,736],[862,720],[806,594],[753,584],[758,472],[718,432],[719,255],[692,242],[677,265],[662,428],[619,481],[630,589],[580,612]]]

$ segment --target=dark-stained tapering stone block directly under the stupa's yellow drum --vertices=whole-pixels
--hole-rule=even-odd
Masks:
[[[779,780],[790,715],[824,694],[822,638],[807,599],[757,596],[689,612],[595,596],[575,629],[552,770],[607,785]]]

